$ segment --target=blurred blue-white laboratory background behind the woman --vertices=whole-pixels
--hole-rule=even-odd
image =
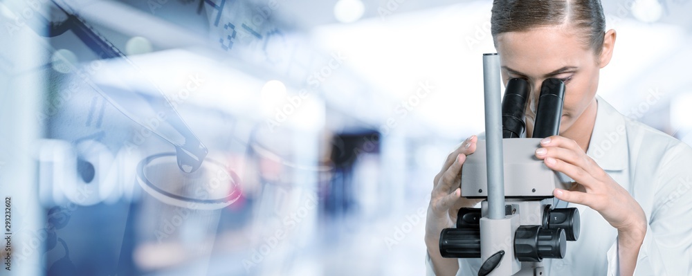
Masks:
[[[0,0],[10,275],[424,275],[491,2]],[[690,2],[603,1],[598,92],[685,142]]]

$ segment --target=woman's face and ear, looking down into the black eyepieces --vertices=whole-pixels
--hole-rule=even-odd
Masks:
[[[614,31],[608,33],[611,32],[612,42],[605,35],[603,53],[599,56],[585,46],[585,33],[570,26],[545,26],[525,32],[500,33],[495,37],[504,84],[514,77],[531,84],[526,111],[529,136],[536,118],[540,84],[549,77],[565,82],[560,134],[570,130],[589,107],[595,112],[599,69],[610,62],[612,53]]]

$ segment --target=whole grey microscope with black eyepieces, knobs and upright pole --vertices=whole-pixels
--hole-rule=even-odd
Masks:
[[[483,55],[483,75],[486,140],[466,156],[461,188],[462,196],[486,200],[459,210],[456,228],[442,230],[439,250],[442,257],[480,258],[478,275],[545,276],[541,261],[564,258],[580,230],[576,208],[552,206],[553,190],[569,184],[534,156],[542,138],[558,135],[565,84],[541,84],[532,138],[522,138],[528,82],[509,80],[500,107],[498,54]]]

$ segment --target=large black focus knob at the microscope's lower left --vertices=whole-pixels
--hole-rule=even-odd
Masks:
[[[445,258],[480,258],[480,229],[443,229],[439,234],[439,254]]]

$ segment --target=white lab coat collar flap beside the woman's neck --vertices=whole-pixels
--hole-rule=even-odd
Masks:
[[[607,171],[626,169],[628,156],[626,119],[608,102],[596,96],[598,108],[586,154]]]

